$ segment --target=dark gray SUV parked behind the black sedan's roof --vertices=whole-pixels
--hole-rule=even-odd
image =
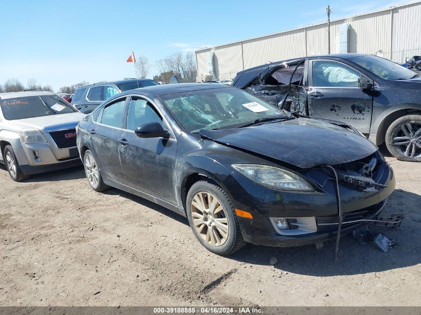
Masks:
[[[150,79],[127,79],[113,82],[99,82],[85,85],[76,90],[72,99],[72,105],[83,113],[90,113],[103,101],[115,96],[116,94],[158,85]]]

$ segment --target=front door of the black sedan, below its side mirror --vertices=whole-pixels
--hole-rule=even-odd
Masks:
[[[119,146],[124,184],[174,204],[177,141],[171,131],[169,139],[139,138],[135,129],[145,123],[158,122],[164,129],[170,128],[148,100],[133,97],[127,107]]]

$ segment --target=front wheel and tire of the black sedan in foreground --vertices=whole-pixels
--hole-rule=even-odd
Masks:
[[[233,205],[215,183],[194,183],[187,194],[186,208],[193,234],[207,250],[225,256],[245,245]]]

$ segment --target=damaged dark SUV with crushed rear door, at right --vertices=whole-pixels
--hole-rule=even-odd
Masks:
[[[351,124],[399,160],[421,161],[421,77],[390,60],[291,59],[241,71],[232,85],[303,116]]]

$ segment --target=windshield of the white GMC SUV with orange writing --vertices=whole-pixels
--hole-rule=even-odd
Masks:
[[[55,95],[0,100],[0,106],[4,118],[7,120],[66,114],[77,111]]]

